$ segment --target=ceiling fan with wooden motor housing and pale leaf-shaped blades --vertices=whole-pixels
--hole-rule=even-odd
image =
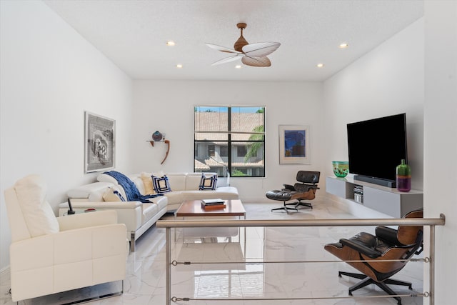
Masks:
[[[239,23],[236,24],[236,26],[238,26],[238,29],[241,30],[241,36],[233,45],[233,49],[206,43],[206,46],[209,46],[211,49],[234,54],[226,57],[225,59],[216,61],[212,64],[212,66],[217,64],[226,64],[238,59],[241,59],[243,64],[248,66],[271,66],[271,61],[266,56],[273,53],[273,51],[276,51],[281,44],[278,42],[258,42],[256,44],[249,44],[243,37],[243,29],[246,29],[246,24]]]

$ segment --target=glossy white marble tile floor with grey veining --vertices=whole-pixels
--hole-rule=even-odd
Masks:
[[[355,218],[321,199],[313,201],[313,209],[301,209],[289,214],[284,211],[271,212],[271,209],[278,206],[278,202],[244,205],[246,219]],[[167,214],[164,219],[173,219],[173,216]],[[191,261],[191,264],[179,264],[171,269],[171,292],[173,296],[189,297],[192,300],[172,304],[397,304],[392,298],[384,297],[386,294],[373,284],[354,291],[354,297],[348,296],[348,287],[357,280],[347,276],[338,277],[338,270],[355,270],[323,249],[325,244],[351,237],[359,231],[373,233],[374,228],[371,226],[252,227],[236,229],[234,233],[233,230],[224,231],[219,228],[218,235],[221,237],[217,238],[205,236],[202,234],[204,230],[176,231],[177,239],[171,245],[172,259],[179,262]],[[166,304],[165,246],[165,229],[153,226],[137,241],[136,251],[129,254],[124,294],[91,301],[90,304]],[[266,263],[260,264],[261,261]],[[282,261],[288,263],[281,264]],[[413,291],[394,287],[393,290],[399,294],[423,291],[423,263],[410,262],[395,277],[413,283]],[[14,304],[8,290],[9,274],[4,273],[1,274],[0,304]],[[333,297],[341,299],[331,299]],[[37,299],[33,299],[19,304],[51,304],[46,303],[46,298],[50,300],[51,296],[45,297],[44,303],[37,303]],[[403,297],[402,303],[420,305],[423,300],[420,297]]]

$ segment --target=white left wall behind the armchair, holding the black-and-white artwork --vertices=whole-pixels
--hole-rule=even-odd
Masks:
[[[54,210],[84,174],[84,111],[116,119],[116,164],[131,170],[132,81],[41,1],[0,1],[0,269],[9,264],[4,189],[41,174]]]

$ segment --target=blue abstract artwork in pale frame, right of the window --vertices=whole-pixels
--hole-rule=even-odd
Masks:
[[[279,125],[279,164],[311,164],[311,127]]]

